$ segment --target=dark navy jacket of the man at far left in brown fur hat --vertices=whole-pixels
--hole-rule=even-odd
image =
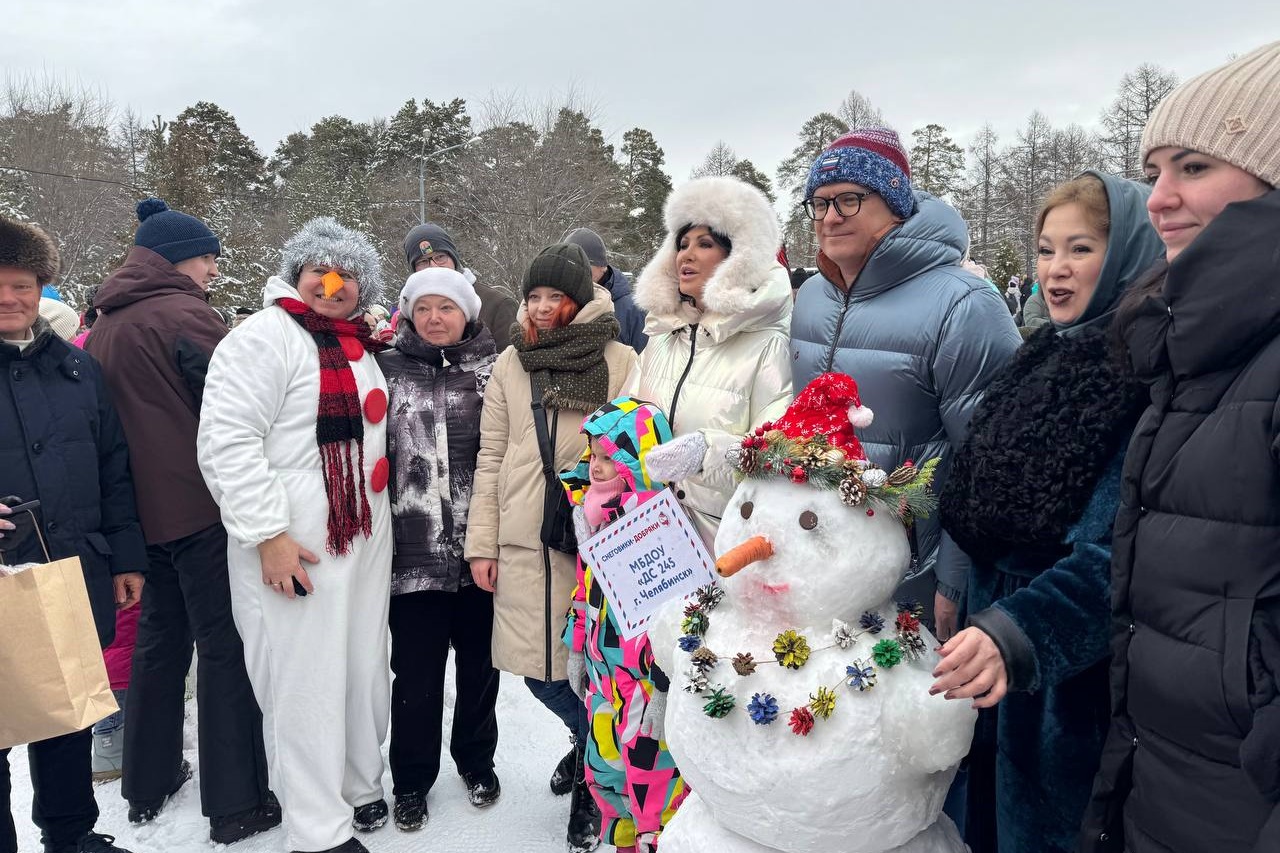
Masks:
[[[109,646],[111,575],[147,567],[129,450],[102,368],[42,319],[26,350],[0,341],[0,494],[40,501],[49,553],[79,557],[97,637]],[[27,540],[14,561],[45,562],[40,542]]]

